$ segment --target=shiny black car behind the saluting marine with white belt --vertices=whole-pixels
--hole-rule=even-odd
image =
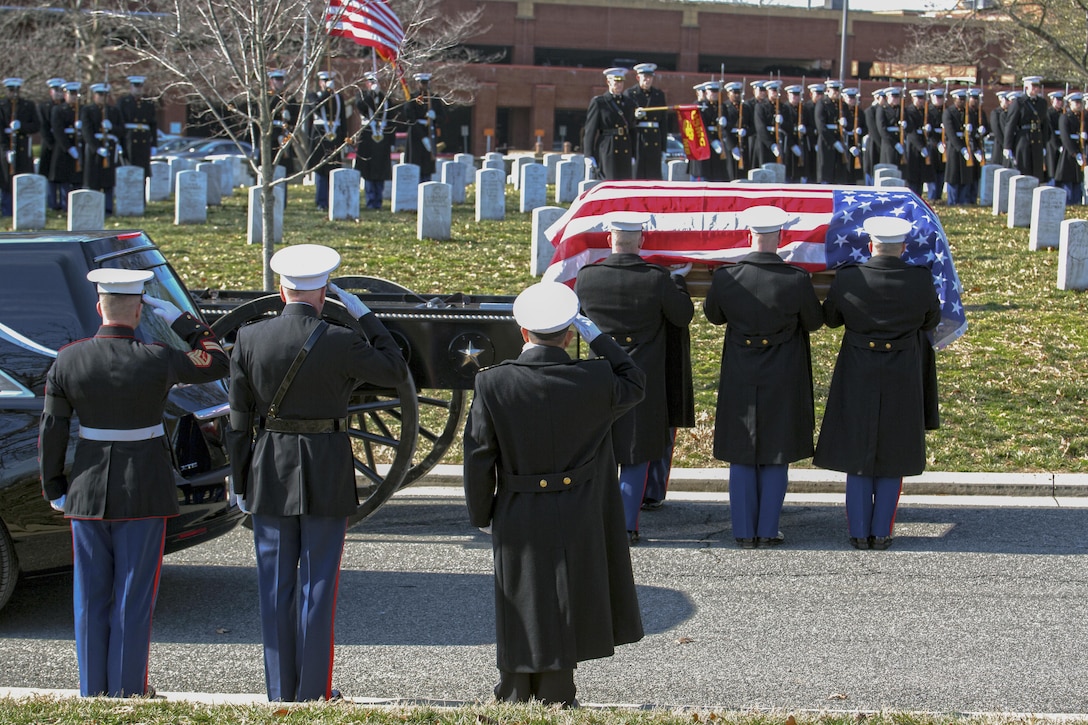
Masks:
[[[21,574],[72,565],[69,524],[41,494],[38,419],[55,351],[94,335],[101,322],[96,287],[86,277],[99,267],[151,270],[148,294],[200,315],[143,232],[0,234],[0,607]],[[156,315],[144,317],[136,336],[187,349]],[[213,539],[243,517],[226,487],[227,413],[223,381],[176,385],[170,393],[163,423],[174,453],[181,515],[168,519],[166,551]],[[72,422],[70,460],[78,425]]]

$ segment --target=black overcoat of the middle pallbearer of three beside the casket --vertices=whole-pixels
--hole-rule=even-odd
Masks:
[[[703,311],[726,324],[714,419],[714,456],[788,464],[813,454],[808,333],[824,324],[805,270],[753,251],[714,272]]]

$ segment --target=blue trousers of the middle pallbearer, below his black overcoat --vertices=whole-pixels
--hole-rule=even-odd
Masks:
[[[729,515],[737,539],[774,539],[786,501],[790,467],[786,464],[729,464]]]

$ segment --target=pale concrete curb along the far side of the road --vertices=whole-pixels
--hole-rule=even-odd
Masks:
[[[791,468],[791,493],[843,493],[846,475],[820,468]],[[461,466],[438,465],[419,480],[424,486],[461,486]],[[673,468],[670,491],[726,492],[729,468]],[[1088,497],[1085,474],[991,474],[927,471],[903,479],[904,495],[1004,495]]]

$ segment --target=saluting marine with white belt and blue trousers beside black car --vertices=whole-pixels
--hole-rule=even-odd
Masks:
[[[144,303],[189,346],[145,344],[136,336],[140,294],[152,273],[96,269],[102,325],[63,347],[49,369],[41,414],[41,487],[72,523],[74,613],[79,693],[148,693],[151,613],[159,588],[166,518],[177,489],[162,416],[175,383],[226,374],[228,360],[211,330],[171,303]],[[70,427],[78,442],[64,470]]]

